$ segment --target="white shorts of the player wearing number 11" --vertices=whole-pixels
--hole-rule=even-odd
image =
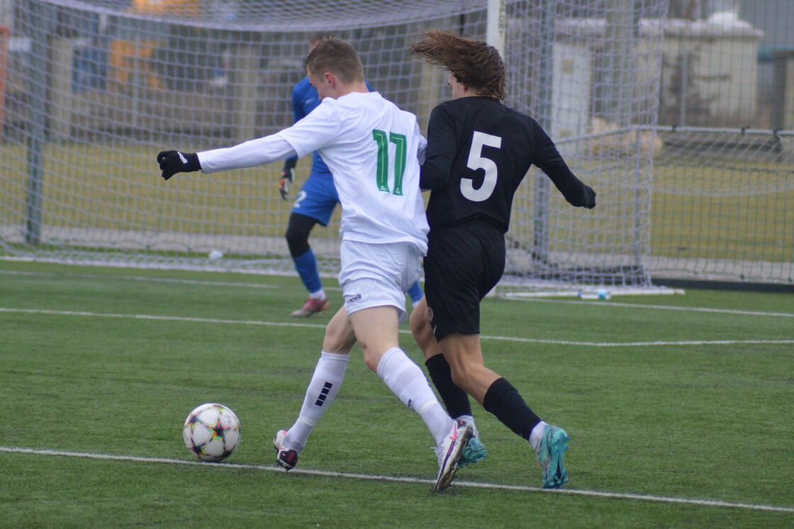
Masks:
[[[405,321],[405,293],[422,275],[421,250],[410,242],[342,241],[340,254],[339,286],[348,314],[391,306],[399,311],[399,321]]]

